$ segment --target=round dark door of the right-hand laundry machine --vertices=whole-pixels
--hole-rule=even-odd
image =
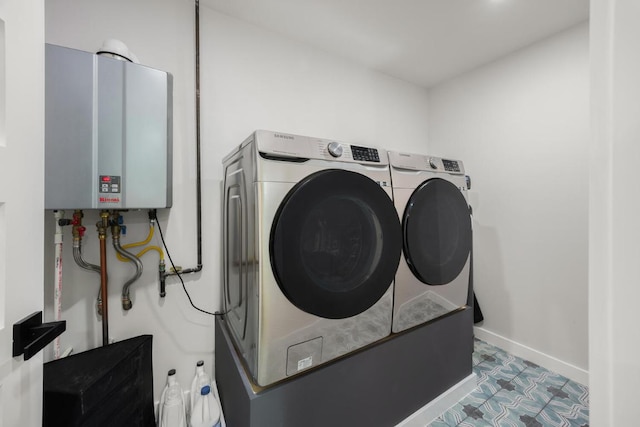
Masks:
[[[460,189],[441,178],[423,182],[409,198],[402,234],[418,280],[445,285],[458,277],[471,252],[471,215]]]

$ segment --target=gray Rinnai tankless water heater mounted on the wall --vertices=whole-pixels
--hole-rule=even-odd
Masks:
[[[46,45],[45,208],[172,203],[171,74]]]

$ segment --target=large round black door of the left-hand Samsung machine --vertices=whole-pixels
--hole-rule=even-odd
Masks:
[[[276,281],[291,303],[320,317],[347,318],[370,308],[393,282],[400,221],[375,181],[328,169],[289,191],[269,249]]]

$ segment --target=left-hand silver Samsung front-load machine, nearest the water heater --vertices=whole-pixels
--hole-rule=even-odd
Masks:
[[[225,312],[256,383],[388,336],[402,237],[387,153],[256,131],[223,164]]]

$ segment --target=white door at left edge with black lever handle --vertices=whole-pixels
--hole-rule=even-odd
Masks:
[[[0,426],[42,425],[42,353],[12,357],[42,311],[44,1],[0,1]]]

